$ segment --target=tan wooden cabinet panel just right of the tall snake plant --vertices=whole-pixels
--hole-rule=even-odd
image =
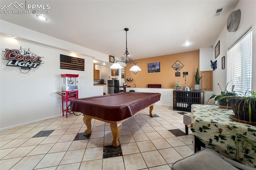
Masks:
[[[212,91],[212,71],[200,71],[200,80],[201,89],[203,91]]]

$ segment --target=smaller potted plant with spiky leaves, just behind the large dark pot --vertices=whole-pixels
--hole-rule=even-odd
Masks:
[[[219,87],[220,84],[218,83]],[[231,107],[231,103],[228,101],[228,98],[226,98],[225,96],[232,96],[235,97],[237,96],[236,92],[234,91],[234,85],[232,85],[232,89],[231,91],[227,91],[227,86],[228,83],[224,89],[224,91],[222,91],[221,87],[220,87],[220,95],[211,95],[210,99],[214,98],[215,100],[215,105],[218,105],[220,108],[224,108],[224,109],[232,109]]]

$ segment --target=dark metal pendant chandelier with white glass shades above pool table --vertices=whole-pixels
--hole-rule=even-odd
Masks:
[[[122,63],[130,63],[130,64],[135,64],[134,66],[132,66],[132,68],[130,69],[130,71],[134,72],[134,74],[136,74],[138,71],[140,71],[140,67],[138,67],[136,64],[137,62],[134,62],[132,60],[132,58],[129,58],[129,52],[127,50],[127,31],[129,30],[129,28],[124,28],[124,31],[126,31],[126,51],[124,52],[124,57],[120,57],[118,60],[115,59],[116,63],[114,63],[110,68],[111,69],[122,69],[123,67],[117,63],[118,62],[122,62]]]

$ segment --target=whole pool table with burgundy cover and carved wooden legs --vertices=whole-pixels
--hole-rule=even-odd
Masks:
[[[71,111],[81,112],[87,129],[85,134],[92,132],[91,120],[96,119],[110,123],[113,135],[112,145],[120,145],[119,134],[122,122],[150,107],[149,115],[153,117],[154,103],[160,100],[160,93],[126,92],[96,97],[73,99],[70,101]]]

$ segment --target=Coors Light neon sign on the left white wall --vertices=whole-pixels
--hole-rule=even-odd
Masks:
[[[31,53],[29,49],[8,49],[6,48],[4,57],[9,60],[7,66],[21,67],[21,69],[29,70],[36,68],[42,62],[41,57],[35,53]]]

